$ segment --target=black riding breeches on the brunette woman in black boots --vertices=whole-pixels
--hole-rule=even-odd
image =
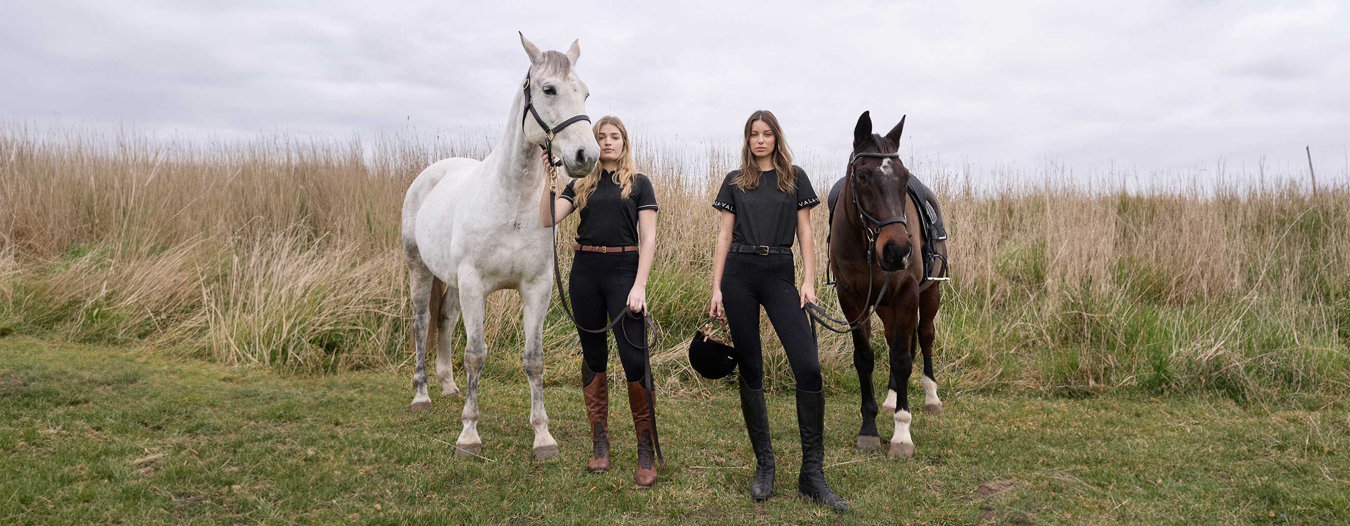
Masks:
[[[815,333],[802,310],[791,254],[767,256],[732,252],[722,268],[722,308],[732,330],[732,344],[741,353],[741,376],[751,388],[764,387],[764,355],[760,347],[760,306],[768,313],[787,352],[796,388],[821,390],[821,357]]]

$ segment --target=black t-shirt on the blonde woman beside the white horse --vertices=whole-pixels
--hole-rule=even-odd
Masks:
[[[576,204],[576,190],[567,183],[562,198]],[[614,182],[613,171],[601,171],[595,190],[586,197],[582,223],[576,225],[576,243],[595,247],[632,247],[637,244],[637,210],[656,210],[656,193],[647,175],[633,174],[628,198],[624,187]]]

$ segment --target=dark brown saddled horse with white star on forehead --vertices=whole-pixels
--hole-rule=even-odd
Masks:
[[[875,310],[884,325],[891,357],[890,390],[883,407],[894,411],[895,418],[892,459],[914,456],[907,387],[914,370],[915,336],[923,349],[923,410],[942,413],[933,380],[933,318],[942,302],[938,281],[945,279],[948,271],[941,208],[896,154],[903,129],[902,117],[884,136],[872,134],[872,117],[863,112],[853,129],[848,174],[830,190],[830,270],[848,322],[845,330],[852,329],[853,367],[863,397],[857,446],[875,449],[882,445],[872,392],[875,357],[868,341],[871,312]]]

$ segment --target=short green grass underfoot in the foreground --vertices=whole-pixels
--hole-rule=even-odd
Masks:
[[[792,496],[801,449],[790,397],[770,397],[775,498],[748,498],[752,453],[736,394],[717,386],[659,399],[667,468],[655,488],[639,490],[622,397],[613,397],[613,469],[586,473],[580,390],[556,380],[574,376],[570,363],[548,366],[563,453],[531,460],[517,366],[485,380],[487,459],[466,460],[446,444],[459,432],[460,401],[433,397],[429,414],[409,413],[405,370],[286,376],[5,337],[0,523],[1350,522],[1342,402],[946,390],[945,415],[915,415],[915,457],[892,461],[853,449],[856,391],[836,386],[826,475],[853,506],[836,515]]]

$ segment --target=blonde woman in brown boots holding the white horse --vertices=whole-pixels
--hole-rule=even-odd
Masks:
[[[594,131],[601,148],[595,171],[572,179],[562,196],[545,193],[539,202],[539,220],[543,227],[552,227],[572,210],[580,210],[576,255],[568,278],[576,324],[597,329],[624,317],[614,326],[614,340],[637,430],[634,481],[645,487],[656,483],[659,450],[647,352],[636,347],[645,343],[647,332],[640,318],[625,316],[625,312],[647,310],[647,276],[656,254],[656,196],[647,175],[633,171],[624,123],[606,116],[595,121]],[[554,217],[548,213],[549,200],[554,200]],[[593,441],[586,469],[602,472],[609,469],[609,339],[605,333],[580,329],[576,334],[582,344],[582,392]]]

